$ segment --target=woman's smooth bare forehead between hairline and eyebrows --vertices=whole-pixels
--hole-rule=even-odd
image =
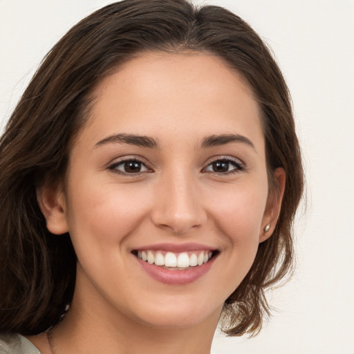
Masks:
[[[145,53],[106,77],[95,97],[84,129],[95,140],[120,132],[158,135],[167,142],[171,133],[195,139],[239,133],[263,145],[251,88],[213,55]]]

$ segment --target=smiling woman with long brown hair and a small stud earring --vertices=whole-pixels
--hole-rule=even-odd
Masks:
[[[223,8],[127,0],[50,51],[0,145],[3,353],[209,353],[292,266],[288,89]]]

